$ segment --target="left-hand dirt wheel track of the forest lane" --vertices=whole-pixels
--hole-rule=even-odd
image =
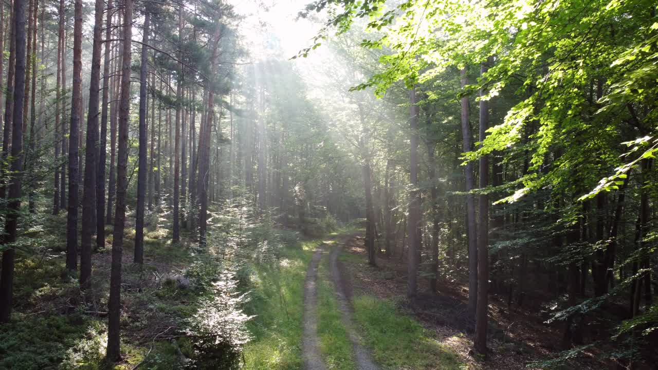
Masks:
[[[324,255],[326,244],[322,243],[313,253],[304,283],[304,338],[302,340],[304,364],[306,370],[326,370],[318,349],[318,305],[317,280],[318,265]]]

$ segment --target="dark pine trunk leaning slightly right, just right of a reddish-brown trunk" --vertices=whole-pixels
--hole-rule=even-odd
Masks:
[[[99,85],[101,78],[101,37],[103,35],[103,7],[105,1],[96,0],[91,52],[91,78],[89,79],[89,111],[84,166],[84,196],[82,197],[82,237],[80,238],[80,286],[89,286],[91,278],[91,236],[97,230],[96,196],[98,167],[98,115]],[[109,44],[109,43],[106,43]],[[105,48],[107,50],[107,47]],[[105,93],[103,93],[105,95]],[[101,216],[102,219],[102,216]]]

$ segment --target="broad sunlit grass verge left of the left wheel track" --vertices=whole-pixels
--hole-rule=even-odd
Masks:
[[[288,247],[278,265],[253,266],[247,323],[253,340],[244,349],[244,369],[301,369],[306,269],[317,241]]]

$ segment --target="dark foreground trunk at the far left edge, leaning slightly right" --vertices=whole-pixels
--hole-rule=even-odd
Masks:
[[[16,44],[16,66],[14,72],[13,92],[14,107],[22,107],[25,97],[25,1],[14,1],[13,14],[14,42]],[[18,215],[20,213],[20,171],[23,159],[23,112],[12,110],[13,132],[11,138],[11,185],[9,186],[9,205],[5,219],[5,236],[3,244],[13,244],[18,235]],[[7,323],[11,318],[13,282],[14,282],[14,248],[8,248],[2,254],[2,271],[0,272],[0,323]]]

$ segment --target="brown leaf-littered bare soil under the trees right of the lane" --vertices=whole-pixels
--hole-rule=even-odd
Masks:
[[[561,328],[545,324],[542,317],[523,307],[508,307],[505,300],[490,296],[490,326],[486,362],[471,355],[474,321],[467,313],[468,288],[464,284],[440,282],[436,294],[430,292],[429,281],[418,278],[418,296],[406,298],[407,265],[399,257],[378,256],[377,267],[366,263],[363,237],[355,236],[343,248],[345,274],[353,294],[372,294],[398,302],[399,307],[414,315],[424,327],[433,330],[446,346],[456,352],[469,369],[528,369],[530,361],[549,359],[559,352]],[[586,354],[578,361],[578,369],[607,369]]]

